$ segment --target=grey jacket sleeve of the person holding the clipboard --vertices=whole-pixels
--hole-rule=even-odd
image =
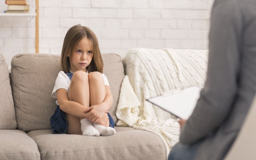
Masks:
[[[216,130],[228,116],[237,92],[242,44],[242,13],[236,0],[215,1],[209,35],[209,62],[204,89],[180,133],[192,144]]]

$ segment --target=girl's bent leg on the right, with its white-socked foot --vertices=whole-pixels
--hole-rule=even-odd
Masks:
[[[106,89],[102,74],[100,72],[91,72],[88,75],[89,87],[90,87],[90,103],[91,106],[100,104],[106,97]],[[107,113],[105,113],[107,115]],[[107,127],[99,125],[93,122],[93,126],[100,132],[102,136],[108,136],[116,133],[114,128],[109,127],[109,121]]]

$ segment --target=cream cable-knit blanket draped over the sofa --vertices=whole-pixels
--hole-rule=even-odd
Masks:
[[[126,76],[116,110],[117,126],[157,134],[166,145],[168,157],[179,141],[177,117],[145,99],[173,89],[203,87],[208,51],[134,48],[122,61]]]

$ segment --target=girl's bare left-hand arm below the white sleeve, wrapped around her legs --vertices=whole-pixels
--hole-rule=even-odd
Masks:
[[[75,101],[68,100],[68,91],[66,89],[61,88],[57,90],[57,100],[60,109],[70,115],[84,118],[88,114],[84,112],[88,107],[85,107]]]

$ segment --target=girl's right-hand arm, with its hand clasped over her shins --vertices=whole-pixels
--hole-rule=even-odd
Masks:
[[[85,109],[85,113],[88,114],[85,116],[85,118],[88,118],[92,122],[98,122],[100,118],[106,113],[106,111],[111,108],[113,104],[113,96],[111,94],[111,90],[108,85],[105,85],[106,89],[106,97],[103,100],[102,103],[98,105],[91,106],[87,109]]]

